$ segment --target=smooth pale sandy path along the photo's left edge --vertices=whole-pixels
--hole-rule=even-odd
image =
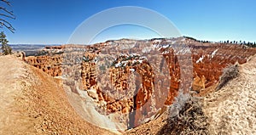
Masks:
[[[31,128],[32,119],[22,115],[25,110],[16,102],[22,95],[21,80],[26,76],[24,66],[24,63],[14,56],[0,56],[0,134],[23,134],[34,131]]]

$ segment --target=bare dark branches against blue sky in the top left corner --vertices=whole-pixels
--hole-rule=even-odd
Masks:
[[[9,10],[7,7],[10,7],[11,4],[8,0],[0,0],[1,6],[0,6],[0,28],[6,27],[11,32],[15,32],[15,28],[13,25],[11,25],[8,21],[8,19],[15,20],[15,14],[12,10]]]

